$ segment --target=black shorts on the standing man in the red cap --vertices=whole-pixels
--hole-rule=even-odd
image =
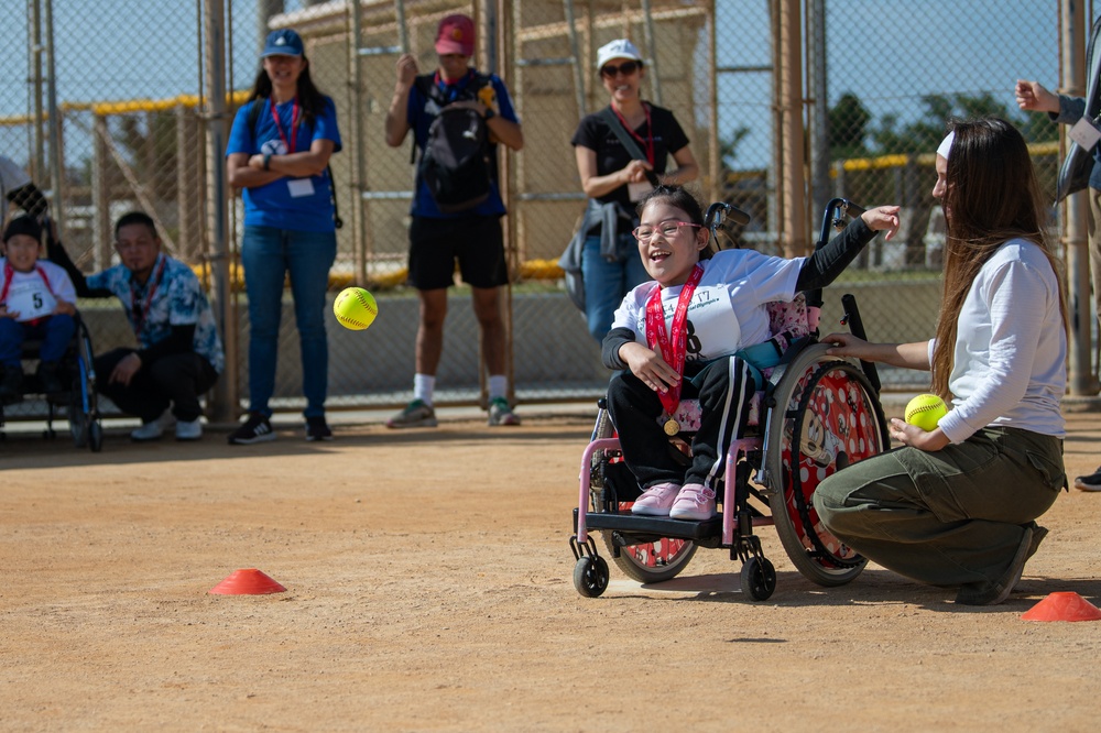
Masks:
[[[509,282],[504,237],[498,217],[432,219],[413,217],[410,226],[410,284],[435,291],[455,283],[455,261],[462,282],[499,287]]]

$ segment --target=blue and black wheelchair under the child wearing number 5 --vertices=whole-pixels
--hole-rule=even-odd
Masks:
[[[95,353],[91,348],[91,336],[80,315],[76,315],[76,332],[62,359],[63,382],[68,389],[63,392],[43,394],[39,378],[33,372],[28,373],[26,362],[39,359],[41,342],[25,341],[23,343],[22,360],[24,363],[23,395],[41,395],[46,405],[46,428],[43,437],[57,437],[54,430],[54,420],[64,412],[68,419],[69,434],[77,448],[90,448],[94,452],[99,452],[103,447],[103,426],[99,414],[98,395],[96,392],[96,370],[92,361]],[[37,401],[23,403],[22,398],[17,402],[9,402],[4,405],[0,403],[0,439],[4,437],[4,411],[20,417],[32,416],[37,413],[32,409],[37,406]]]

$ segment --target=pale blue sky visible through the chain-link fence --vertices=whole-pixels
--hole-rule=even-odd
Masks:
[[[235,86],[243,88],[255,72],[257,3],[231,4]],[[1017,76],[1057,81],[1057,0],[827,0],[826,7],[829,99],[855,92],[876,118],[911,120],[920,95],[942,91],[992,91],[1012,109]],[[198,88],[196,2],[55,0],[54,12],[59,100],[164,98]],[[0,28],[15,51],[0,57],[0,116],[22,114],[26,3],[0,3]],[[770,63],[766,0],[720,0],[717,28],[720,65]],[[767,77],[724,75],[720,85],[720,132],[750,128],[742,164],[767,161]],[[0,150],[19,147],[26,147],[25,131],[0,130]]]

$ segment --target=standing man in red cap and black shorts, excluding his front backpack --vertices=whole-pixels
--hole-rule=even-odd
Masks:
[[[386,114],[386,144],[401,145],[410,130],[422,165],[417,168],[410,227],[408,280],[417,288],[421,315],[416,335],[416,374],[413,402],[386,422],[391,428],[435,427],[433,391],[444,347],[447,288],[454,283],[455,262],[470,286],[475,316],[481,329],[482,359],[489,372],[489,424],[517,425],[508,398],[504,321],[500,289],[509,282],[501,217],[504,203],[498,184],[497,149],[520,150],[524,136],[509,90],[495,74],[480,74],[470,66],[475,53],[475,24],[466,15],[448,15],[436,30],[438,66],[417,75],[416,57],[397,59],[397,83]],[[424,162],[430,156],[429,130],[442,111],[477,112],[488,131],[489,195],[464,210],[451,210],[434,198],[425,180]],[[448,210],[444,210],[448,209]]]

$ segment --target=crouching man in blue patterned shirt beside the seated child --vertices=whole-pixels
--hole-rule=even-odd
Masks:
[[[68,271],[80,297],[119,298],[138,339],[138,349],[96,357],[99,392],[141,418],[142,426],[130,434],[137,442],[161,437],[160,418],[168,408],[176,439],[197,440],[203,436],[199,397],[225,366],[210,303],[190,267],[161,252],[149,215],[123,215],[115,225],[115,249],[121,264],[87,277],[59,242],[50,249],[50,258]]]

